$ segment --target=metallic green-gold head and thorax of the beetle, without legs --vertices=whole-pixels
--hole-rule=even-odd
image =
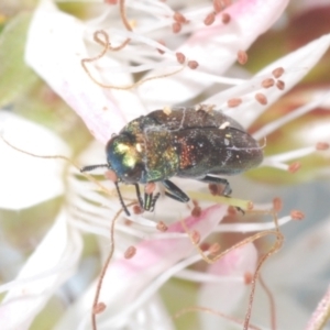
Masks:
[[[170,133],[148,117],[124,127],[109,141],[107,154],[110,167],[124,183],[157,182],[176,175],[178,169]]]

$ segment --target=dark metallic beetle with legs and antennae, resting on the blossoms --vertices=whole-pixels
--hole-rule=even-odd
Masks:
[[[114,172],[116,188],[128,216],[118,183],[134,185],[144,210],[153,210],[160,194],[141,197],[139,184],[161,183],[165,195],[180,202],[189,197],[169,180],[191,178],[224,185],[219,176],[235,175],[257,166],[263,160],[258,143],[232,118],[212,107],[176,107],[155,110],[129,122],[106,146],[107,164],[89,165],[81,172],[107,167]]]

